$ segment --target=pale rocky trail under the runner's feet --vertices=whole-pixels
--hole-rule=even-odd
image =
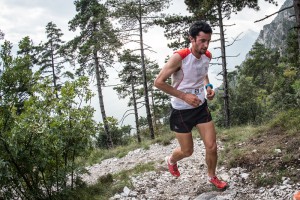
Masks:
[[[155,163],[155,171],[145,172],[131,177],[134,189],[125,187],[121,194],[115,194],[111,200],[289,200],[300,189],[300,182],[293,183],[283,178],[280,185],[268,188],[255,188],[249,180],[249,172],[242,168],[225,169],[218,166],[217,175],[229,184],[225,191],[217,191],[207,183],[204,144],[194,140],[194,154],[180,161],[181,176],[175,178],[167,170],[164,162],[177,146],[173,140],[168,146],[153,144],[149,149],[136,149],[123,158],[110,158],[87,168],[89,175],[83,180],[93,184],[100,176],[134,168],[138,164]],[[219,151],[222,151],[222,144]]]

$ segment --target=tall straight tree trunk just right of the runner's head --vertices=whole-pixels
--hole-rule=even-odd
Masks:
[[[221,41],[221,55],[222,55],[222,74],[223,74],[223,87],[224,87],[224,126],[229,127],[230,125],[230,114],[229,114],[229,91],[228,91],[228,80],[227,80],[227,63],[226,63],[226,51],[225,51],[225,36],[223,29],[223,17],[221,5],[218,6],[219,15],[219,27],[220,27],[220,41]]]

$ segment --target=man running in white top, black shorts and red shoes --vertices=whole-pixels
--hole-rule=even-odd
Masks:
[[[172,96],[170,128],[180,146],[166,157],[170,173],[179,177],[177,162],[192,155],[194,143],[191,131],[195,126],[205,145],[208,181],[218,189],[225,189],[227,183],[216,176],[216,131],[205,99],[205,90],[207,99],[212,100],[215,96],[207,74],[211,60],[207,48],[211,35],[210,25],[195,22],[189,29],[191,48],[176,51],[158,74],[154,85]],[[166,83],[169,77],[172,85]]]

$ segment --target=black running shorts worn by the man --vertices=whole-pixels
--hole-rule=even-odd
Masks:
[[[190,133],[194,126],[210,122],[211,114],[205,102],[193,109],[176,110],[172,108],[170,115],[170,128],[177,133]]]

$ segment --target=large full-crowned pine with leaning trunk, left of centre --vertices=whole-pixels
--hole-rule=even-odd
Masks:
[[[70,41],[65,48],[73,53],[78,52],[77,60],[80,68],[77,75],[88,73],[95,75],[97,80],[98,98],[107,146],[113,147],[107,116],[104,107],[102,87],[108,78],[107,67],[113,64],[114,53],[121,46],[116,31],[113,29],[109,12],[105,5],[97,0],[77,0],[74,2],[76,16],[69,22],[70,29],[80,29],[80,35]]]

